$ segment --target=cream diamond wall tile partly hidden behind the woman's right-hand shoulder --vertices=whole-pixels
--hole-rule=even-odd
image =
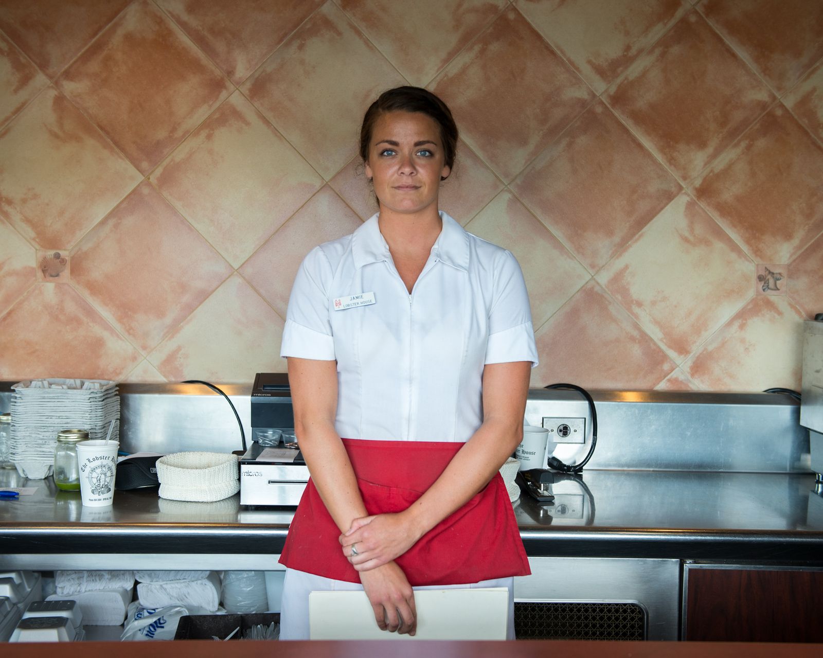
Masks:
[[[511,251],[518,259],[535,328],[590,278],[586,268],[508,190],[468,222],[466,230]]]

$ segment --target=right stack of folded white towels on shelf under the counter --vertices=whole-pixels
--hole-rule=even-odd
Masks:
[[[135,572],[137,599],[143,608],[182,605],[187,609],[216,612],[221,581],[216,572]]]

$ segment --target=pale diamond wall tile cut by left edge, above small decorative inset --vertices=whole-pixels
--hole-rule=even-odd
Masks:
[[[0,131],[0,213],[43,249],[74,245],[140,179],[52,88]]]

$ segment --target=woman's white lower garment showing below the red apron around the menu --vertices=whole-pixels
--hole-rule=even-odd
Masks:
[[[430,585],[414,587],[414,590],[477,589],[480,587],[506,587],[509,590],[509,623],[506,639],[514,640],[514,578],[497,578],[467,585]],[[286,569],[283,581],[283,597],[280,604],[280,639],[309,639],[309,592],[314,591],[357,591],[363,586],[357,582],[335,581],[332,578],[315,576],[313,573]]]

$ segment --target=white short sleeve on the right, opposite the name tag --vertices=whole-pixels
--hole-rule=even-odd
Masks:
[[[485,363],[530,361],[537,366],[532,310],[517,259],[504,251],[495,266]]]

